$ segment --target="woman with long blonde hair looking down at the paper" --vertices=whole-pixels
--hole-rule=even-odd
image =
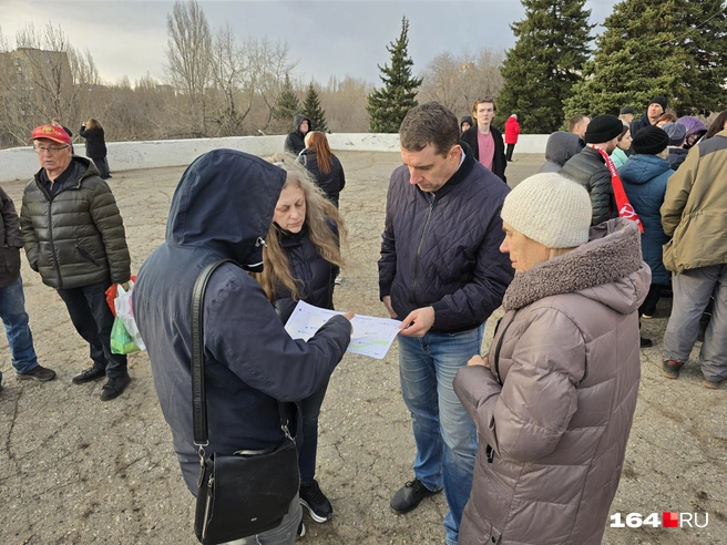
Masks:
[[[334,279],[344,265],[340,241],[345,240],[347,233],[336,207],[295,158],[286,156],[280,166],[288,176],[265,239],[263,272],[253,276],[285,323],[299,300],[334,309]],[[329,520],[334,513],[315,480],[318,415],[327,388],[328,383],[300,402],[300,503],[319,523]]]

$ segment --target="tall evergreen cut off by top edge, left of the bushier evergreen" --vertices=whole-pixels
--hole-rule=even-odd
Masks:
[[[523,132],[551,133],[563,124],[563,101],[588,60],[591,10],[585,0],[521,2],[525,19],[510,25],[518,41],[503,62],[495,124],[516,113]]]

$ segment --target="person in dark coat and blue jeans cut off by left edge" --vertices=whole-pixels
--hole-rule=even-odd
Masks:
[[[10,361],[16,368],[16,377],[19,380],[45,382],[55,378],[55,371],[38,364],[20,277],[22,245],[16,206],[0,187],[0,319],[6,327]],[[1,372],[0,390],[2,390]]]

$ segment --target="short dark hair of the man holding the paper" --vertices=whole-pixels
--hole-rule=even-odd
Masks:
[[[447,156],[460,142],[457,116],[438,102],[412,107],[399,127],[399,142],[408,152],[420,152],[431,144],[438,154]]]

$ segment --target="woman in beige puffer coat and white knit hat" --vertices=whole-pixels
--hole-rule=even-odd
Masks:
[[[585,189],[559,174],[505,198],[501,250],[516,271],[506,313],[488,357],[454,380],[480,438],[461,545],[601,543],[636,407],[651,271],[636,224],[588,232],[590,218]]]

